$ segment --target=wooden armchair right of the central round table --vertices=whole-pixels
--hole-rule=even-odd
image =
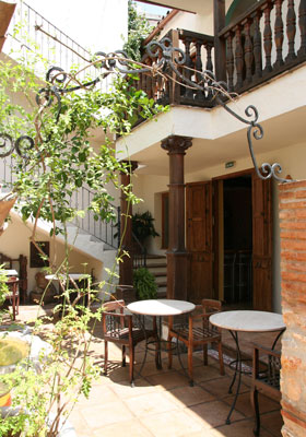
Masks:
[[[221,311],[222,304],[220,300],[203,299],[202,305],[197,305],[196,309],[188,316],[188,323],[175,326],[173,317],[168,322],[168,341],[176,339],[181,341],[188,350],[188,375],[189,383],[193,386],[193,364],[192,353],[195,347],[201,345],[203,347],[203,362],[208,365],[208,344],[217,343],[220,373],[224,375],[223,353],[221,343],[221,332],[217,328],[209,322],[212,314]],[[200,310],[200,314],[199,314]],[[197,323],[198,322],[198,323]],[[168,368],[172,368],[173,354],[168,350]]]

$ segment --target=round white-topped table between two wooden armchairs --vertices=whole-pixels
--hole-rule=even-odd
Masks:
[[[132,302],[127,306],[128,310],[134,315],[138,316],[152,316],[153,317],[153,329],[156,330],[157,334],[157,343],[156,343],[156,367],[162,368],[162,357],[161,357],[161,323],[162,323],[162,317],[164,316],[179,316],[186,312],[191,312],[195,308],[196,305],[191,304],[190,302],[187,300],[176,300],[176,299],[148,299],[148,300],[137,300]],[[160,329],[157,331],[157,322],[156,318],[158,317],[160,319]],[[165,341],[166,342],[166,341]],[[146,342],[146,349],[149,349],[149,344],[152,342]],[[166,342],[167,343],[167,342]],[[142,362],[141,368],[139,374],[141,374],[142,368],[145,363],[145,357],[146,357],[146,350],[145,350],[145,355],[144,359]]]

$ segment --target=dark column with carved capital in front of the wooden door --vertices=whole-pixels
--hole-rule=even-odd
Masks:
[[[169,155],[169,247],[167,250],[167,298],[187,299],[188,255],[185,248],[184,156],[192,145],[189,137],[172,135],[162,141]]]

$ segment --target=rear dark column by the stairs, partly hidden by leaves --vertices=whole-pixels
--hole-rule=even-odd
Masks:
[[[131,173],[137,167],[137,161],[129,161],[130,173],[121,173],[121,185],[128,187],[131,184]],[[132,285],[133,283],[133,259],[132,259],[132,204],[128,202],[127,196],[121,190],[120,197],[120,237],[122,240],[121,252],[125,250],[130,253],[130,257],[123,255],[123,262],[119,263],[119,275],[121,285]]]

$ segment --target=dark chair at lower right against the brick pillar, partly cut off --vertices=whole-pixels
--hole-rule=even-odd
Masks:
[[[260,359],[266,358],[267,364],[262,370]],[[264,392],[273,399],[281,400],[280,391],[280,370],[281,370],[281,352],[273,351],[262,346],[254,349],[252,356],[252,386],[250,391],[250,400],[254,408],[256,425],[254,435],[259,436],[260,433],[260,413],[258,392]]]

